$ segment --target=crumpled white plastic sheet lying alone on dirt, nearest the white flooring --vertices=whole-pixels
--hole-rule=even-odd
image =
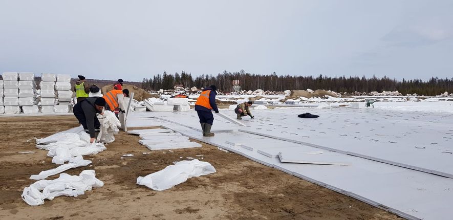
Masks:
[[[138,177],[137,184],[156,191],[163,191],[184,183],[189,178],[200,177],[214,172],[215,168],[208,162],[197,159],[180,161],[175,165],[167,166],[163,170],[151,173],[145,177]]]

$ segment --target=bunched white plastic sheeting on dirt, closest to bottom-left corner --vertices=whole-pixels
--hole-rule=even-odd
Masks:
[[[94,170],[83,170],[78,176],[61,173],[55,180],[40,180],[25,187],[22,199],[31,206],[44,204],[44,200],[53,200],[56,196],[83,195],[84,191],[102,187],[104,183],[96,179]]]

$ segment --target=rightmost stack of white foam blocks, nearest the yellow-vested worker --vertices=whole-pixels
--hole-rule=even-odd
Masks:
[[[71,91],[71,75],[58,74],[55,90],[57,91],[58,96],[58,102],[54,108],[55,113],[68,113],[73,94]]]

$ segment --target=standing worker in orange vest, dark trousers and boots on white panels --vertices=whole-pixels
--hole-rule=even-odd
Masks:
[[[203,130],[204,137],[212,137],[214,133],[211,133],[212,122],[214,116],[211,111],[219,113],[219,108],[215,104],[215,95],[217,95],[217,87],[211,85],[201,92],[200,96],[195,102],[195,111],[197,111],[198,118],[200,118],[201,129]]]

